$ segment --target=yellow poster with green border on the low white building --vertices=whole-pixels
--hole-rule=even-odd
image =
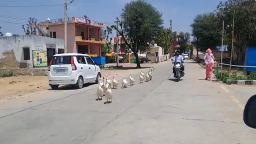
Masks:
[[[32,51],[33,67],[47,67],[47,51]]]

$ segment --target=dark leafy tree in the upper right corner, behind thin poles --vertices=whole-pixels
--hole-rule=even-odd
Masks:
[[[246,46],[256,46],[256,3],[255,0],[227,0],[217,6],[218,22],[225,23],[225,32],[232,41],[232,21],[235,10],[234,46],[244,53]]]

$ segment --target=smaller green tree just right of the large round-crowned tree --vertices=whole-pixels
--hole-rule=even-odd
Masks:
[[[164,48],[165,54],[169,52],[171,47],[171,41],[173,39],[170,29],[162,28],[156,36],[155,42],[162,48]]]

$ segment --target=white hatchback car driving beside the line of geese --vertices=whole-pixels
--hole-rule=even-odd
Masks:
[[[85,83],[98,83],[99,77],[100,67],[85,54],[56,54],[48,67],[49,85],[52,89],[58,89],[59,85],[76,85],[80,89]]]

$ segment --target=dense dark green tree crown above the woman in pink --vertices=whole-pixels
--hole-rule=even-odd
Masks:
[[[214,49],[221,43],[222,33],[214,14],[197,15],[190,26],[197,50]]]

